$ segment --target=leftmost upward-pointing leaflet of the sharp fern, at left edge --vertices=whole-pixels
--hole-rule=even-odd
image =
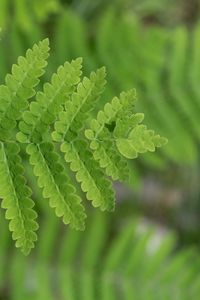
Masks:
[[[26,57],[20,56],[18,64],[13,65],[12,73],[5,79],[6,85],[0,86],[0,138],[10,138],[16,120],[28,107],[28,99],[35,95],[34,87],[39,83],[39,77],[44,73],[49,51],[48,39],[32,50],[26,52]]]

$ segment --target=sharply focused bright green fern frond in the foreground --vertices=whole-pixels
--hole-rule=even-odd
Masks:
[[[108,177],[128,180],[126,158],[154,151],[166,142],[137,124],[140,115],[134,113],[133,90],[113,98],[93,119],[106,82],[105,68],[81,78],[80,58],[60,66],[38,91],[48,52],[47,39],[34,45],[19,57],[0,86],[0,196],[13,239],[24,254],[33,248],[38,227],[21,159],[24,152],[43,198],[65,224],[82,230],[84,206],[66,163],[93,206],[112,211],[115,196]]]

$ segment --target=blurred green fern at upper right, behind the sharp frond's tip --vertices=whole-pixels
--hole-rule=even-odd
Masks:
[[[136,111],[143,111],[146,124],[170,141],[158,155],[139,159],[145,167],[163,169],[171,163],[194,167],[199,156],[199,23],[190,30],[183,25],[146,27],[134,15],[119,16],[110,8],[98,19],[91,39],[87,23],[77,19],[71,11],[61,16],[54,33],[55,56],[65,59],[82,52],[86,70],[105,64],[109,84],[104,101],[116,91],[136,87],[140,98]],[[64,41],[61,31],[69,32]],[[67,52],[60,52],[61,44]]]

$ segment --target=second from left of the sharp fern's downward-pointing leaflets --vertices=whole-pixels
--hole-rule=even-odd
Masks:
[[[38,185],[43,188],[43,197],[49,199],[50,207],[55,208],[56,215],[62,217],[65,224],[70,223],[71,227],[83,230],[86,216],[81,199],[64,173],[53,144],[30,144],[27,153],[34,165]]]

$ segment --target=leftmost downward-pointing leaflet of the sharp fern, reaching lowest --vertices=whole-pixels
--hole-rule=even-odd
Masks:
[[[1,206],[6,209],[6,219],[11,220],[9,229],[13,232],[16,247],[20,247],[27,255],[37,240],[35,231],[38,224],[19,151],[16,143],[0,143],[0,196],[3,198]]]

